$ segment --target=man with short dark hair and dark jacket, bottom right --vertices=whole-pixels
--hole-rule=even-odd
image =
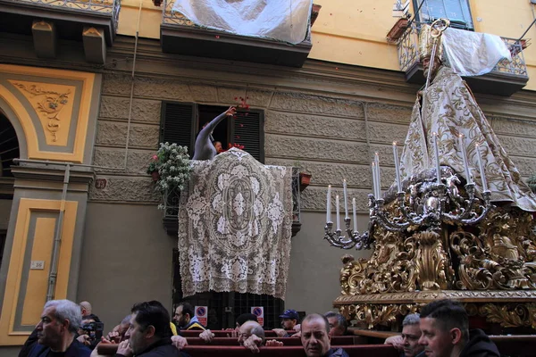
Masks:
[[[467,312],[451,300],[434,301],[421,311],[422,335],[427,357],[499,357],[497,346],[481,329],[469,332]]]

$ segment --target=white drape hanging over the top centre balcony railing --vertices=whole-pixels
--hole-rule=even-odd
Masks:
[[[173,11],[208,29],[299,44],[312,6],[313,0],[175,0]]]

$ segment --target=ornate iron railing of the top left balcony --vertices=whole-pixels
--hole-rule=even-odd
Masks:
[[[83,12],[109,13],[112,15],[114,32],[117,32],[121,10],[121,0],[13,0],[13,2],[57,6]]]

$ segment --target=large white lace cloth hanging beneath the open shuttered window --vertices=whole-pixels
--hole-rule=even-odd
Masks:
[[[284,299],[292,233],[292,170],[233,148],[195,161],[179,209],[184,296],[213,290]]]

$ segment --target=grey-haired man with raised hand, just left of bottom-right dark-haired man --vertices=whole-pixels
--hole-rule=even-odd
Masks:
[[[400,357],[424,357],[424,346],[419,345],[421,338],[421,318],[418,313],[410,313],[402,321],[402,335],[390,336],[384,344],[393,345],[400,351]]]

